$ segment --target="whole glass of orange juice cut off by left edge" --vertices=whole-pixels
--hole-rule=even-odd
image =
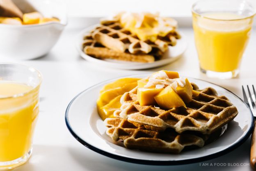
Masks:
[[[41,80],[35,68],[0,64],[0,170],[25,163],[32,153]]]

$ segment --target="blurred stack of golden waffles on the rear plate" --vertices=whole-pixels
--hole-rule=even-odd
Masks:
[[[118,20],[101,21],[101,25],[84,35],[83,51],[100,59],[117,59],[132,62],[154,62],[175,46],[181,36],[176,30],[154,42],[141,41],[121,26]]]

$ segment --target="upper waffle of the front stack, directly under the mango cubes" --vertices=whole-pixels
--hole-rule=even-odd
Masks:
[[[137,101],[137,87],[126,92],[121,97],[121,108],[114,112],[115,117],[128,119],[137,127],[144,126],[148,130],[164,131],[174,128],[178,133],[197,131],[211,134],[235,118],[238,114],[236,107],[225,96],[217,96],[213,88],[199,90],[198,96],[185,107],[163,110],[155,106],[141,106]]]

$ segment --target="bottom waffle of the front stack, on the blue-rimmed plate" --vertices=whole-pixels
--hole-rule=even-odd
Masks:
[[[106,133],[114,141],[123,140],[126,148],[158,153],[180,153],[185,146],[204,145],[206,137],[192,134],[178,134],[174,130],[156,132],[137,127],[127,119],[107,118],[105,125],[110,127]]]

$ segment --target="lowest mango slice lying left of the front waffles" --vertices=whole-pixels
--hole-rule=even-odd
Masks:
[[[98,114],[101,116],[101,119],[104,120],[106,118],[114,118],[114,111],[120,109],[121,103],[120,98],[122,95],[119,95],[112,99],[110,103],[103,107],[98,108]]]

